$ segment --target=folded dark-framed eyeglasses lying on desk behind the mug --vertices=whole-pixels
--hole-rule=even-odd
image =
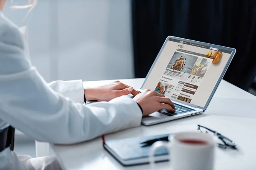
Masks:
[[[209,133],[208,131],[212,132],[214,134],[214,136],[217,136],[218,139],[220,139],[222,143],[218,143],[218,147],[224,148],[226,149],[227,147],[231,148],[231,149],[236,149],[236,143],[233,142],[232,140],[228,139],[226,136],[221,135],[221,133],[218,133],[217,131],[211,130],[207,127],[198,125],[198,131],[201,133]]]

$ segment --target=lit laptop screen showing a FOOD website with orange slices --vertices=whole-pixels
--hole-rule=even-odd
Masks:
[[[204,107],[231,53],[169,38],[143,89]]]

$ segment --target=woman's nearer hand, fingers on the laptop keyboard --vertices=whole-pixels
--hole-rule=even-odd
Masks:
[[[175,111],[173,102],[168,97],[155,91],[145,90],[142,93],[137,94],[133,100],[142,107],[143,116],[148,116],[149,114],[162,109]]]

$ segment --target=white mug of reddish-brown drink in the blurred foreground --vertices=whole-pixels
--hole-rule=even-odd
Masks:
[[[169,136],[170,142],[155,142],[149,153],[154,170],[154,153],[160,147],[169,150],[173,170],[213,170],[215,142],[211,135],[198,132],[176,133]]]

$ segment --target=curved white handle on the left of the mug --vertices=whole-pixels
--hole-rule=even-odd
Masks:
[[[157,167],[155,166],[155,161],[154,161],[154,153],[156,152],[156,150],[159,148],[166,148],[169,151],[169,155],[170,155],[171,154],[170,147],[171,147],[171,142],[157,141],[157,142],[154,142],[154,144],[152,144],[149,151],[149,164],[151,165],[152,170],[157,170]]]

